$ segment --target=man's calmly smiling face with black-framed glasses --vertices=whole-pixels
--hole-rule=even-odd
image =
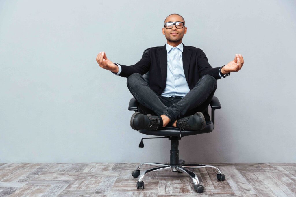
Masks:
[[[184,22],[182,17],[178,15],[170,15],[165,22]],[[184,34],[186,34],[187,27],[183,26],[182,28],[177,28],[176,25],[173,25],[171,29],[167,29],[163,27],[163,35],[165,35],[165,38],[167,40],[170,40],[172,42],[177,42],[183,39]]]

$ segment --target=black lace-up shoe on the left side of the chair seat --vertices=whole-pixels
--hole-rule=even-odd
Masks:
[[[139,112],[133,113],[131,116],[131,128],[134,130],[148,129],[157,130],[163,126],[162,119],[160,116],[152,114],[142,114]]]

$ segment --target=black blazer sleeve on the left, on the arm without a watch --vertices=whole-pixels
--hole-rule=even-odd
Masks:
[[[150,50],[145,51],[141,60],[138,61],[135,65],[125,66],[120,64],[121,72],[118,74],[122,77],[129,77],[131,74],[139,73],[141,75],[147,73],[150,69],[151,59],[150,59]]]

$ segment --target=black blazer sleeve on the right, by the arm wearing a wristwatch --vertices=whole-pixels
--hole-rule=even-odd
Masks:
[[[208,60],[205,53],[200,50],[200,54],[197,58],[197,67],[198,67],[198,74],[199,77],[202,78],[202,76],[209,74],[213,76],[215,79],[222,79],[222,77],[219,75],[219,69],[222,67],[215,67],[213,68]]]

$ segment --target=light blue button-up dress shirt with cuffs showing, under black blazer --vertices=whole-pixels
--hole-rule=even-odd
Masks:
[[[180,43],[178,46],[173,47],[167,43],[166,49],[168,57],[167,80],[165,89],[163,93],[161,93],[161,96],[179,96],[184,98],[190,89],[183,69],[183,44]],[[118,63],[116,64],[118,65],[118,73],[116,73],[116,75],[119,75],[121,72],[121,66]],[[220,72],[219,76],[222,78]]]

